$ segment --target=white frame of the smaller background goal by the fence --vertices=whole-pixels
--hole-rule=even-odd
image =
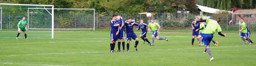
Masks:
[[[29,23],[29,10],[32,9],[45,9],[47,11],[47,9],[51,9],[51,8],[28,8],[28,23]],[[54,8],[54,10],[93,10],[93,27],[92,28],[66,28],[66,29],[93,29],[95,31],[95,9],[78,9],[78,8]],[[49,13],[49,11],[47,11]],[[58,17],[57,15],[55,15],[55,18]],[[52,22],[54,23],[54,22]],[[76,19],[75,19],[75,24],[76,24]],[[55,24],[56,25],[56,24]],[[75,25],[76,26],[76,25]],[[29,27],[29,25],[28,25]],[[52,25],[52,28],[54,26]],[[47,28],[28,28],[28,29],[47,29]],[[54,29],[62,29],[62,28],[54,28]]]

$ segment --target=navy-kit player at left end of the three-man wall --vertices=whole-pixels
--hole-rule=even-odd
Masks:
[[[110,32],[110,36],[111,36],[111,43],[110,43],[110,52],[116,52],[115,49],[115,45],[116,45],[116,40],[117,40],[117,35],[119,33],[119,23],[116,20],[116,15],[112,16],[112,20],[110,21],[110,25],[111,25],[111,32]]]

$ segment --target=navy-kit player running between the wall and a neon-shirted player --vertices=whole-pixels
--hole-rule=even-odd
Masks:
[[[148,42],[149,45],[151,45],[151,43],[148,41],[148,39],[146,38],[146,34],[147,34],[147,24],[143,23],[143,20],[140,20],[140,24],[139,24],[139,28],[137,28],[137,30],[142,30],[142,33],[140,34],[140,38],[144,41],[143,44],[145,44],[146,42]]]

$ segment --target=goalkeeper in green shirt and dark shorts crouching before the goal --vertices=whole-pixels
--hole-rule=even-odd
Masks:
[[[19,33],[17,34],[17,37],[16,37],[16,39],[18,39],[18,37],[19,37],[19,35],[20,35],[20,33],[21,33],[21,31],[22,32],[24,32],[24,34],[25,34],[25,39],[26,39],[26,27],[27,27],[27,21],[25,20],[26,19],[26,17],[23,17],[22,18],[22,20],[21,21],[19,21],[19,23],[18,23],[18,29],[20,29],[19,30]]]

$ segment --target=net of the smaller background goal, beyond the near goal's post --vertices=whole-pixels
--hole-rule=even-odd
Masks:
[[[28,8],[29,29],[51,29],[51,8]],[[54,29],[95,30],[95,9],[54,8]]]

